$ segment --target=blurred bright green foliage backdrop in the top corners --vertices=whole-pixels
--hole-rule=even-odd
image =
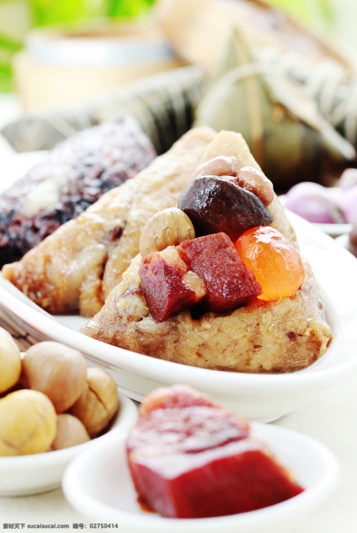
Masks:
[[[266,3],[303,22],[357,64],[355,0],[267,0]],[[52,31],[80,32],[92,28],[94,31],[107,24],[116,26],[144,20],[150,16],[154,4],[155,0],[0,0],[0,92],[3,95],[16,90],[14,55],[24,47],[36,54],[31,39],[30,42],[26,39],[31,29],[50,27]],[[65,62],[63,59],[62,63]],[[26,106],[26,102],[22,104]],[[4,123],[3,115],[1,122]]]

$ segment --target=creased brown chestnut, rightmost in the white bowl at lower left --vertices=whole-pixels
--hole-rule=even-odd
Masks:
[[[118,405],[117,386],[111,376],[101,368],[88,368],[85,389],[70,412],[95,437],[109,424]]]

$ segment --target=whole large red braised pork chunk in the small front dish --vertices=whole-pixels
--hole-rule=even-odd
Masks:
[[[303,491],[247,421],[184,385],[143,401],[127,456],[139,500],[168,518],[253,511]]]

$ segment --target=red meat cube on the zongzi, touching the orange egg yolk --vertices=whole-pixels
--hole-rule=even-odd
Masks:
[[[225,233],[185,240],[177,251],[189,270],[204,281],[207,295],[203,301],[210,311],[232,311],[262,294],[253,272]]]

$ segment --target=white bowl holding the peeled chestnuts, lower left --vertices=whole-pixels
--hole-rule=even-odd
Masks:
[[[119,401],[120,410],[115,423],[108,433],[97,439],[45,454],[0,457],[0,496],[36,494],[60,487],[63,472],[74,457],[135,425],[137,408],[134,402],[121,393]]]

